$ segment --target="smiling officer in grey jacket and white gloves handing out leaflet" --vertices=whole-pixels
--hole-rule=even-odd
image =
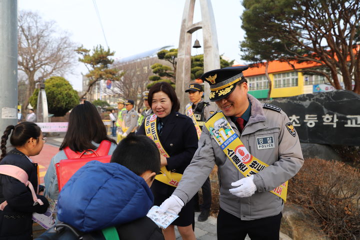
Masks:
[[[261,104],[247,94],[247,81],[242,74],[246,69],[247,66],[226,67],[208,71],[201,78],[210,84],[209,99],[216,102],[244,147],[268,166],[255,174],[242,175],[203,127],[191,163],[175,191],[160,207],[178,212],[216,164],[220,186],[217,238],[244,239],[248,234],[251,240],[278,240],[283,199],[272,190],[297,173],[303,156],[287,115],[279,107]]]

